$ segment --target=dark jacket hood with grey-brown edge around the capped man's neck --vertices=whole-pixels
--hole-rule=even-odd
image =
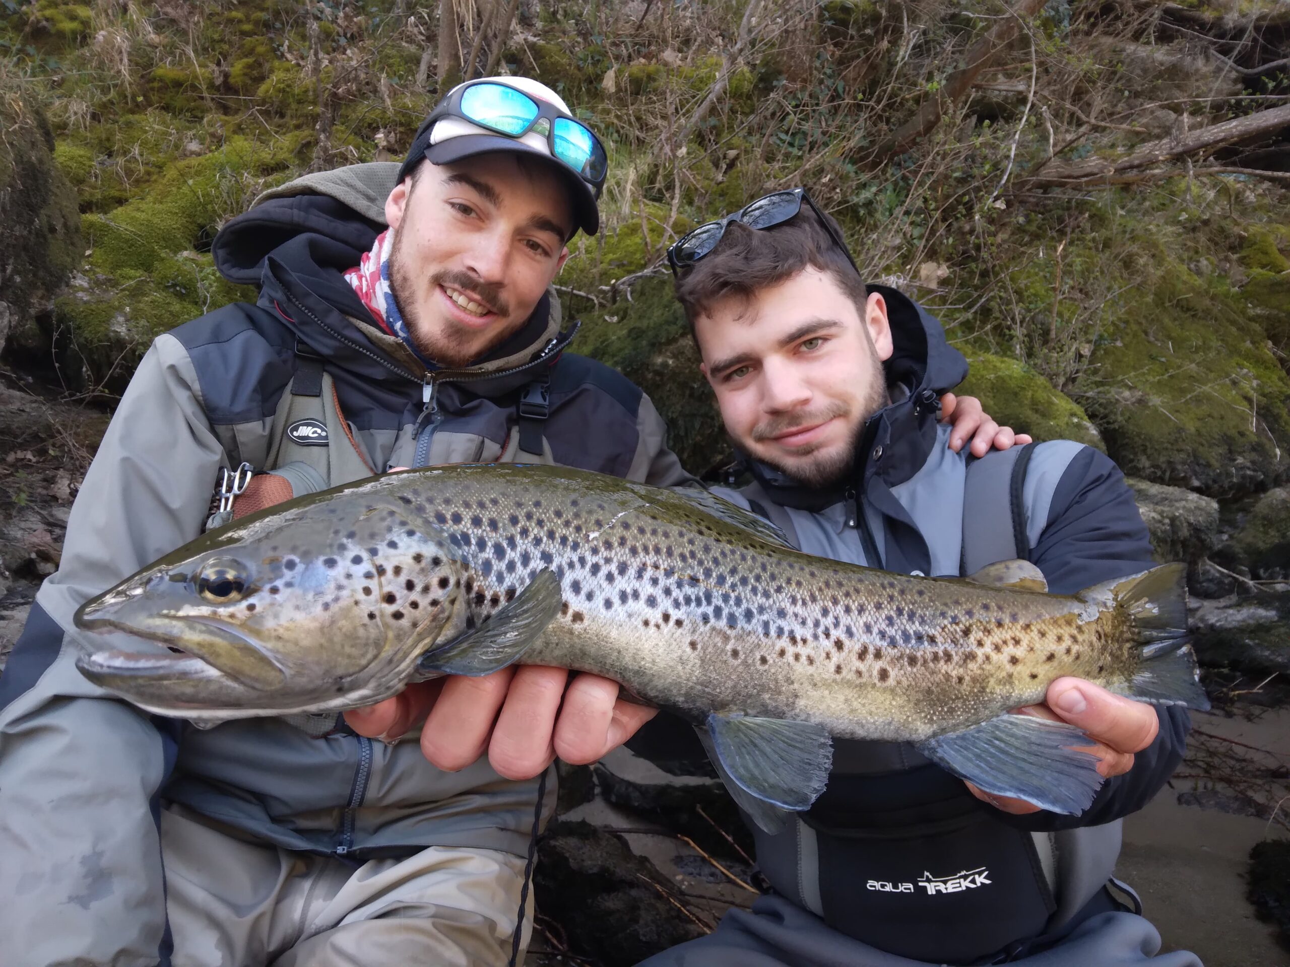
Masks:
[[[419,383],[424,370],[392,360],[355,324],[374,320],[343,276],[387,228],[384,204],[397,174],[397,164],[378,161],[288,182],[230,220],[215,236],[212,255],[228,281],[258,286],[259,304],[317,355],[366,378]],[[454,378],[470,382],[553,357],[571,338],[561,338],[560,321],[560,302],[548,289],[516,333]],[[561,346],[553,352],[555,343]]]

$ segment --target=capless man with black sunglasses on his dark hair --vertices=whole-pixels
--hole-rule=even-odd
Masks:
[[[937,398],[966,375],[964,357],[922,308],[864,285],[837,224],[801,188],[700,226],[668,254],[751,474],[717,493],[795,547],[928,576],[1024,558],[1055,593],[1152,566],[1133,494],[1104,454],[1059,440],[973,463],[944,446]],[[1028,712],[1090,737],[1107,779],[1082,815],[987,794],[908,744],[835,741],[808,811],[779,814],[774,834],[749,824],[773,892],[646,964],[1198,967],[1186,952],[1153,957],[1160,935],[1112,879],[1120,819],[1182,758],[1187,710],[1067,677]]]

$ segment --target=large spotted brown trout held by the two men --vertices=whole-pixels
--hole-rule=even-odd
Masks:
[[[802,554],[700,490],[457,465],[304,496],[179,548],[75,619],[169,649],[77,665],[205,725],[556,665],[694,722],[768,828],[823,792],[831,736],[916,743],[987,792],[1077,814],[1102,781],[1076,750],[1087,737],[1009,709],[1059,676],[1207,707],[1182,578],[1166,565],[1075,596],[1045,593],[1022,561],[912,578]]]

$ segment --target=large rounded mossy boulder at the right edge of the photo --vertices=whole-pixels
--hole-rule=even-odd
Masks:
[[[1290,378],[1240,297],[1166,264],[1122,299],[1087,411],[1125,473],[1211,496],[1284,480]]]

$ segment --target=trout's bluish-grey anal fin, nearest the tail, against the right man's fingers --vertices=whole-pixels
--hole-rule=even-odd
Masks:
[[[1067,722],[998,716],[918,743],[918,752],[983,792],[1077,816],[1102,786],[1098,757],[1073,747],[1094,741]]]

